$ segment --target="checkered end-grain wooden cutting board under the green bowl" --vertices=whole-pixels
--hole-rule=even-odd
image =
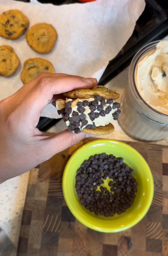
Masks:
[[[70,213],[62,193],[66,162],[84,139],[30,171],[17,256],[168,255],[168,147],[126,142],[148,162],[154,198],[146,216],[120,233],[93,231]]]

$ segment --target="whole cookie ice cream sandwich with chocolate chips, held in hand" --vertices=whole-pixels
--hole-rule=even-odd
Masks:
[[[119,94],[104,86],[92,89],[72,90],[63,93],[66,100],[56,101],[56,109],[62,115],[68,130],[74,133],[95,135],[114,131],[111,120],[117,120],[121,113],[120,103],[115,102]]]

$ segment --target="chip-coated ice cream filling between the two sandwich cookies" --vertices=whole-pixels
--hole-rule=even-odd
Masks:
[[[105,126],[111,120],[117,120],[120,103],[105,100],[96,95],[89,99],[59,99],[56,101],[58,114],[62,115],[68,129],[80,133],[83,128],[95,129]]]

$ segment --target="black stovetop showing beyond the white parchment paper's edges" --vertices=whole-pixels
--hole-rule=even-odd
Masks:
[[[30,2],[29,0],[23,1]],[[79,3],[77,0],[38,1],[42,3],[49,2],[54,5],[72,4],[74,2]],[[155,40],[160,40],[168,34],[168,1],[145,0],[145,2],[146,6],[144,12],[137,20],[132,36],[118,55],[109,61],[109,65],[106,67],[102,77],[98,81],[99,85],[105,85],[114,78],[114,76],[130,65],[133,56],[143,45]],[[46,131],[59,120],[60,119],[40,117],[37,128],[41,131]]]

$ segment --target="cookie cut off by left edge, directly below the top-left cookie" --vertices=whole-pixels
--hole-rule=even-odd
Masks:
[[[20,60],[14,49],[8,45],[0,46],[0,75],[11,76],[19,68]]]

